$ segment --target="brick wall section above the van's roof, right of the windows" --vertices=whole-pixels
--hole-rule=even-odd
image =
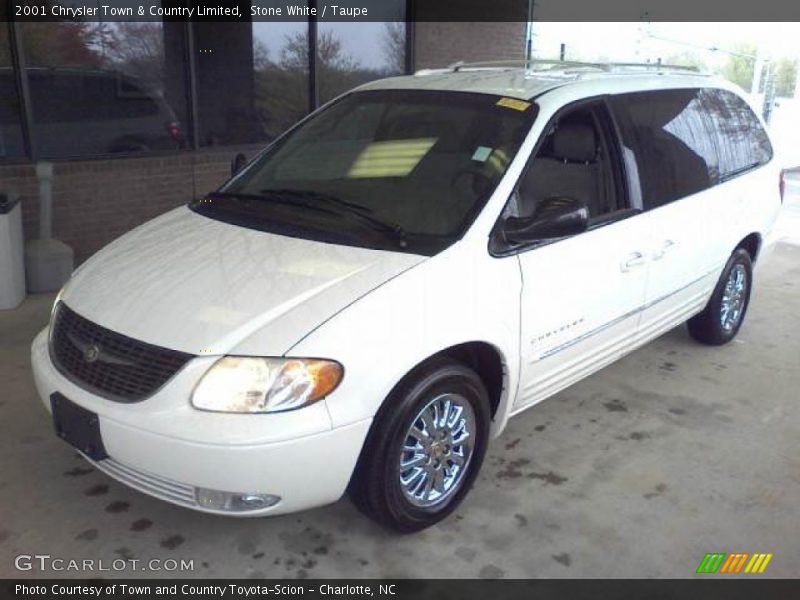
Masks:
[[[446,67],[463,61],[525,58],[524,22],[417,23],[416,69]]]

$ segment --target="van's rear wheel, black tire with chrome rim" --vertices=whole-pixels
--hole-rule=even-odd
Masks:
[[[728,259],[703,312],[689,319],[689,334],[710,346],[721,346],[735,338],[750,304],[752,282],[750,253],[739,248]]]

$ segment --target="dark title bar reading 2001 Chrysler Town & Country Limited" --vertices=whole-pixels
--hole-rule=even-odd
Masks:
[[[800,2],[791,0],[5,0],[0,7],[0,20],[16,21],[800,21]]]

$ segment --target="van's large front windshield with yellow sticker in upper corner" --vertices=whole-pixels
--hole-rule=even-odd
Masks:
[[[276,233],[434,254],[483,208],[535,112],[488,94],[355,92],[192,208]]]

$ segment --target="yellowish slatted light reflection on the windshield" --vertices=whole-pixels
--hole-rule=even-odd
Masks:
[[[425,157],[437,138],[372,142],[353,162],[347,177],[405,177]]]

